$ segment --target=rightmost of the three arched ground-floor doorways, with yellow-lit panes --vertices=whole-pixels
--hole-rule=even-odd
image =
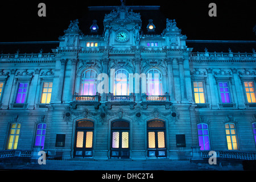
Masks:
[[[148,158],[166,158],[166,126],[163,121],[147,123]]]

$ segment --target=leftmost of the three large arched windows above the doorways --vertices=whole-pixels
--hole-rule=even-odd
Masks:
[[[95,96],[96,95],[97,73],[93,69],[87,69],[82,73],[80,95]]]

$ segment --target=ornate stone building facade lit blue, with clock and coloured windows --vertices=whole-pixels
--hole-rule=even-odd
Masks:
[[[58,42],[18,44],[50,53],[0,55],[0,150],[178,160],[195,146],[256,151],[255,41],[187,40],[175,19],[145,22],[157,6],[89,9],[108,13],[87,32],[74,20]]]

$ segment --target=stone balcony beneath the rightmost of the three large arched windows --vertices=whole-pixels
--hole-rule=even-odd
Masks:
[[[145,93],[142,94],[142,106],[146,109],[148,105],[165,105],[166,109],[170,109],[172,102],[170,96],[166,93],[163,96],[147,96]]]

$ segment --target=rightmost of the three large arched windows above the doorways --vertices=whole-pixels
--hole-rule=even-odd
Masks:
[[[150,69],[147,72],[147,95],[161,96],[162,94],[162,73],[158,69]]]

